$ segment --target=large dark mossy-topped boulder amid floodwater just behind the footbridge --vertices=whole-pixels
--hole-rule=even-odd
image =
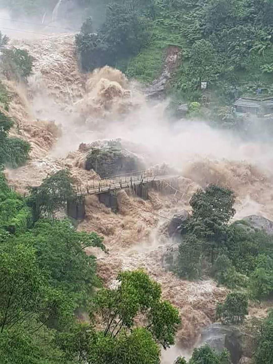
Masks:
[[[145,169],[137,155],[118,146],[94,147],[86,157],[86,170],[93,169],[102,178]]]

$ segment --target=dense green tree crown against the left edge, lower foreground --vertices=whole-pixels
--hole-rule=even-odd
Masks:
[[[0,248],[0,332],[37,313],[44,279],[35,249],[19,244]]]

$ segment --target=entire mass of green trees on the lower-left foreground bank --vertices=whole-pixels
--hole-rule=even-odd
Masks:
[[[55,210],[70,188],[70,175],[60,171],[37,191]],[[138,270],[120,273],[116,289],[101,288],[96,259],[85,249],[105,250],[102,238],[76,231],[68,220],[33,221],[27,203],[35,198],[13,192],[0,174],[3,363],[159,364],[160,345],[174,344],[180,324],[178,310],[161,299],[160,285]],[[28,224],[9,229],[7,221],[24,209]],[[78,323],[76,313],[87,310],[89,324]]]

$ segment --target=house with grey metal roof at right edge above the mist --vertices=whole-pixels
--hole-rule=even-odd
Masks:
[[[241,97],[234,103],[236,114],[264,116],[273,113],[273,96]]]

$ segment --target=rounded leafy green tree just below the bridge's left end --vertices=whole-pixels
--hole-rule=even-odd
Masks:
[[[68,220],[40,219],[17,240],[31,241],[36,248],[37,264],[47,274],[50,285],[75,295],[76,300],[82,302],[99,284],[95,257],[84,251],[90,246],[105,249],[103,239],[96,233],[78,232]]]

